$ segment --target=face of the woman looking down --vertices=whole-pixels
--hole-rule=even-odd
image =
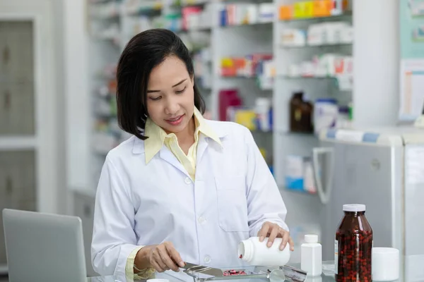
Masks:
[[[147,111],[166,133],[179,133],[189,124],[194,112],[193,78],[177,56],[168,56],[151,71]]]

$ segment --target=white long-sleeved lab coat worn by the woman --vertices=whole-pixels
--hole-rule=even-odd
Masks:
[[[142,140],[112,149],[95,200],[93,267],[124,275],[137,245],[170,241],[185,262],[241,266],[237,245],[265,221],[285,225],[287,210],[252,133],[237,123],[206,121],[222,147],[199,138],[194,183],[167,147],[146,165]]]

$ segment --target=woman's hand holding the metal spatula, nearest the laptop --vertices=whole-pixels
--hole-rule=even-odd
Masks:
[[[151,246],[148,260],[150,265],[158,272],[170,269],[178,272],[179,267],[185,265],[174,245],[170,242]]]

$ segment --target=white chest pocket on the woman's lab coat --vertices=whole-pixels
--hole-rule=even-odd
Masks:
[[[228,232],[249,232],[245,176],[215,178],[220,228]]]

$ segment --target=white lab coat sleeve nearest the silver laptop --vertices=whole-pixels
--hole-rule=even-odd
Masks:
[[[134,204],[128,185],[109,157],[102,168],[95,197],[91,259],[102,276],[125,276],[126,262],[136,245]]]

